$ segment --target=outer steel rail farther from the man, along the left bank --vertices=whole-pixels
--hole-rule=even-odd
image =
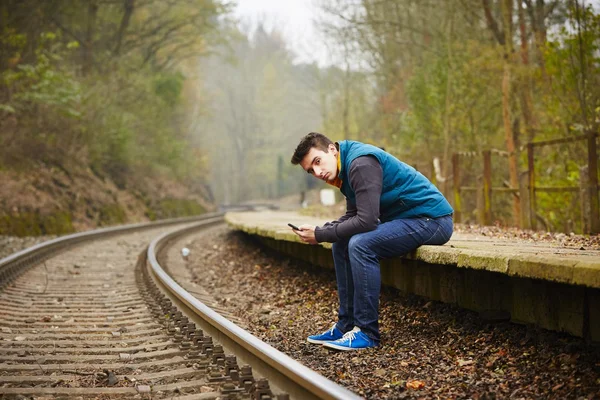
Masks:
[[[97,240],[121,233],[132,232],[137,230],[158,228],[174,224],[192,223],[199,220],[222,218],[224,213],[209,213],[194,217],[171,218],[154,222],[144,222],[138,224],[129,224],[115,226],[110,228],[95,229],[86,232],[74,233],[71,235],[61,236],[56,239],[48,240],[43,243],[38,243],[27,249],[13,253],[5,258],[0,259],[0,290],[16,279],[21,273],[25,272],[30,267],[43,262],[51,255],[71,247],[81,242]]]

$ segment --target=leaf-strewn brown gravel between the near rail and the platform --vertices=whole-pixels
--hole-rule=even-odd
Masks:
[[[600,398],[600,349],[566,334],[508,322],[383,288],[382,343],[337,352],[306,342],[336,319],[332,270],[262,249],[214,228],[188,238],[187,266],[242,327],[368,399]],[[589,243],[588,243],[589,244]]]

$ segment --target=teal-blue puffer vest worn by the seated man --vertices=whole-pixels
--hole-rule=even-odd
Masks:
[[[454,211],[440,191],[420,172],[396,157],[370,144],[343,140],[339,142],[342,171],[340,190],[348,201],[355,203],[348,171],[356,157],[377,157],[383,169],[383,188],[380,199],[381,222],[401,218],[438,218]]]

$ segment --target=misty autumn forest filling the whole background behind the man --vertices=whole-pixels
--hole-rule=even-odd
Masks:
[[[294,195],[310,131],[385,147],[461,222],[600,229],[600,5],[319,0],[327,66],[234,6],[3,1],[0,233]]]

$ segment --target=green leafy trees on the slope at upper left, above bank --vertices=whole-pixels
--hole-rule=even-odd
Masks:
[[[184,131],[189,99],[178,66],[223,39],[212,18],[227,8],[212,0],[131,7],[3,4],[11,18],[0,32],[0,113],[12,119],[0,119],[10,144],[0,164],[74,160],[121,188],[137,174],[201,180],[198,149]]]

